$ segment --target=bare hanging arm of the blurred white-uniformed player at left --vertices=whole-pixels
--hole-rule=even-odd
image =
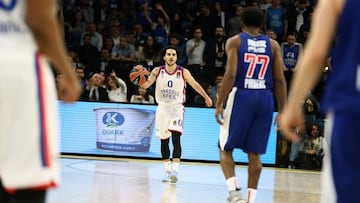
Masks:
[[[79,98],[81,86],[72,70],[61,37],[56,17],[54,0],[28,0],[27,23],[33,32],[40,53],[44,54],[55,69],[63,76],[63,85],[59,90],[61,99],[67,102]]]

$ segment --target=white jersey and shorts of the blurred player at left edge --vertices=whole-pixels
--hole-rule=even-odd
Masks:
[[[57,186],[54,76],[26,24],[25,0],[0,0],[0,179],[7,191]],[[11,85],[9,85],[11,84]]]

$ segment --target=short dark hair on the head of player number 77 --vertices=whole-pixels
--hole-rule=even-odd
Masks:
[[[261,27],[265,22],[265,15],[261,9],[251,6],[244,8],[241,20],[247,27]]]

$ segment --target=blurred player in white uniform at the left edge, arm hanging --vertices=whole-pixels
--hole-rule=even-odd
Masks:
[[[58,185],[59,97],[76,101],[80,84],[61,39],[54,0],[0,1],[0,202],[42,203]],[[46,58],[45,58],[46,57]],[[48,61],[49,60],[49,61]]]

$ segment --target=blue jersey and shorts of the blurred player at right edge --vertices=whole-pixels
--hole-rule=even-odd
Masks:
[[[360,1],[346,0],[338,21],[332,61],[322,108],[328,111],[325,136],[330,138],[331,161],[324,177],[331,177],[336,202],[359,201],[360,157]],[[330,173],[331,172],[331,173]],[[326,180],[323,179],[323,182]],[[323,184],[325,185],[325,184]],[[333,190],[330,187],[326,188]],[[329,194],[325,191],[324,194]],[[334,195],[332,195],[334,196]]]

